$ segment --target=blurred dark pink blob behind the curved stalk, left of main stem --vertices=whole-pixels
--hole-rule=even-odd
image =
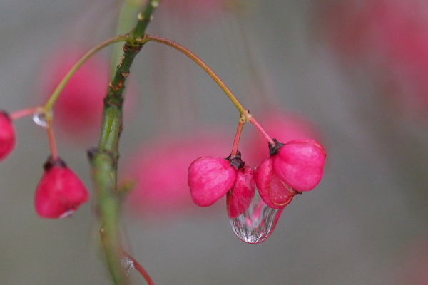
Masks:
[[[41,78],[44,98],[51,95],[83,53],[83,48],[73,48],[49,58]],[[109,73],[108,59],[96,54],[83,63],[63,88],[54,105],[54,125],[58,127],[55,130],[60,135],[65,135],[68,142],[87,142],[100,134],[103,98],[107,94]],[[129,101],[132,101],[132,96],[127,96],[126,99],[127,115],[131,111],[132,102]]]

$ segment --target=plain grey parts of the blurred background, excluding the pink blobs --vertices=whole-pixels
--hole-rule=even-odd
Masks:
[[[65,42],[89,47],[111,36],[117,6],[113,1],[1,0],[1,109],[40,104],[36,86],[44,58],[66,37]],[[241,19],[219,13],[220,21],[208,24],[193,22],[192,14],[160,10],[148,32],[193,48],[257,118],[258,103],[246,95],[250,76],[236,28],[240,23],[283,108],[320,126],[325,177],[317,189],[295,199],[272,237],[257,245],[234,236],[224,200],[190,214],[142,219],[125,214],[123,229],[134,256],[156,284],[427,284],[426,275],[424,283],[412,281],[426,274],[419,265],[428,264],[427,121],[396,115],[370,78],[344,72],[335,54],[317,40],[312,1],[270,0],[251,9]],[[166,59],[163,65],[157,54]],[[232,141],[238,118],[233,105],[175,51],[148,45],[130,81],[145,91],[126,122],[124,156],[157,128],[186,130],[186,123],[173,120],[174,112],[185,110],[164,107],[171,108],[170,115],[155,121],[158,90],[170,97],[201,96],[199,111],[191,110],[183,121],[227,125]],[[198,113],[203,118],[195,123]],[[68,219],[36,217],[34,189],[49,147],[44,130],[29,118],[16,121],[16,130],[16,150],[0,164],[0,284],[110,284],[90,203]],[[91,182],[85,150],[95,144],[58,139],[61,157],[86,185]],[[138,274],[132,276],[144,284]]]

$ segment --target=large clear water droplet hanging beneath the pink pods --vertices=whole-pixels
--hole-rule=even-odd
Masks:
[[[232,224],[233,232],[243,242],[258,244],[272,234],[281,212],[282,209],[267,207],[258,192],[255,192],[248,210],[239,217],[230,219],[230,224]]]

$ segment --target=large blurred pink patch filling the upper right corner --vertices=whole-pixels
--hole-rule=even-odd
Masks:
[[[428,2],[351,0],[324,2],[323,38],[384,89],[397,110],[428,113]]]

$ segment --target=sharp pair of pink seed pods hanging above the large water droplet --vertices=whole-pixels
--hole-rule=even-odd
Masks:
[[[325,150],[314,140],[274,140],[270,157],[255,169],[240,160],[240,154],[226,159],[200,157],[188,170],[188,185],[193,202],[207,207],[227,195],[230,219],[244,214],[255,196],[272,209],[283,209],[301,192],[314,189],[321,181]]]

